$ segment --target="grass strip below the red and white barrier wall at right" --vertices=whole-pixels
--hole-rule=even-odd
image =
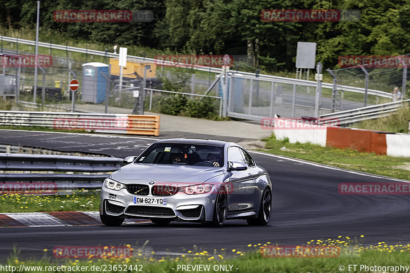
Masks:
[[[290,143],[289,139],[267,139],[265,152],[295,157],[326,165],[410,180],[410,158],[361,153],[352,149],[322,147],[310,143]]]

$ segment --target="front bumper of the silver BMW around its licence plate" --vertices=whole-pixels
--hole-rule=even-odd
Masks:
[[[103,185],[100,194],[100,214],[107,214],[120,218],[164,218],[183,221],[212,221],[216,185],[206,194],[188,195],[178,192],[172,196],[140,196],[130,194],[126,188],[119,191],[110,190]],[[150,188],[151,190],[151,188]],[[150,191],[151,192],[151,191]],[[166,198],[166,204],[137,204],[138,198]]]

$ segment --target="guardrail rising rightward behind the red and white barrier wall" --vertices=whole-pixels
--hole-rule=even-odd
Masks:
[[[362,120],[384,117],[391,115],[393,112],[399,110],[405,102],[410,102],[410,99],[324,114],[320,116],[321,118],[323,118],[320,123],[332,123],[335,119],[337,119],[337,123],[339,123],[340,125],[345,125]]]

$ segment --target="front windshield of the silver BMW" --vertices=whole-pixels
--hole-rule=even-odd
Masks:
[[[223,166],[222,147],[187,143],[158,143],[142,153],[136,163]]]

